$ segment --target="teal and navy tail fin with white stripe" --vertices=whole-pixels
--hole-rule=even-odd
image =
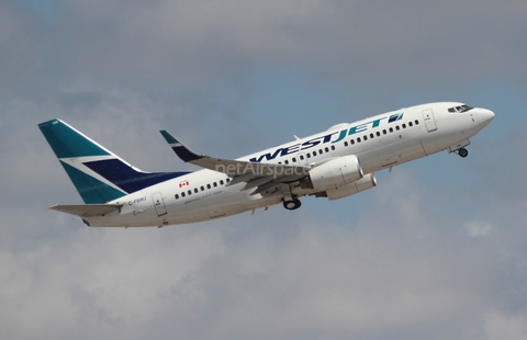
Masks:
[[[143,172],[59,120],[38,128],[86,204],[101,204],[189,172]]]

